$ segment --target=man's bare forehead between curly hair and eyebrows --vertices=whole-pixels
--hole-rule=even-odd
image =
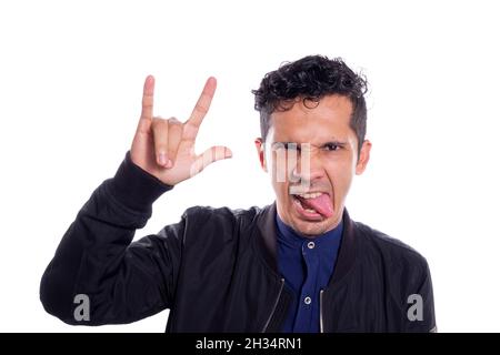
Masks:
[[[287,111],[271,114],[269,138],[272,141],[317,142],[347,140],[354,132],[350,128],[352,104],[349,98],[333,94],[322,98],[316,105],[298,100]]]

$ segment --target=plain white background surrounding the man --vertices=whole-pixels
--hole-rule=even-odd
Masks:
[[[372,159],[351,216],[427,257],[441,332],[500,331],[498,13],[496,1],[2,1],[0,331],[163,332],[168,311],[71,327],[38,295],[61,236],[130,146],[144,77],[157,78],[156,113],[179,119],[217,77],[198,149],[234,156],[158,200],[137,236],[191,205],[272,202],[250,90],[316,53],[370,83]]]

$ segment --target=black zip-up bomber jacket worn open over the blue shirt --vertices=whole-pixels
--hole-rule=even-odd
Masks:
[[[131,243],[153,201],[170,189],[127,154],[47,267],[40,286],[47,312],[69,324],[99,325],[170,308],[167,332],[280,332],[290,292],[277,271],[276,205],[191,207],[179,223]],[[321,292],[321,331],[436,329],[426,260],[347,211],[343,224],[334,274]],[[79,294],[88,296],[89,321],[74,317]],[[409,300],[414,294],[420,315]]]

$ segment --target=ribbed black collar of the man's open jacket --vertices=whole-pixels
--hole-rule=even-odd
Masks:
[[[257,215],[257,239],[258,251],[261,252],[268,266],[276,273],[278,272],[277,257],[277,231],[276,231],[276,202],[264,206]],[[351,270],[357,256],[356,224],[350,219],[347,209],[342,214],[343,232],[340,244],[337,265],[330,284],[337,283],[343,278]]]

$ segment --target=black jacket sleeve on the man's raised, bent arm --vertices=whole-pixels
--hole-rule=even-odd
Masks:
[[[68,324],[130,323],[169,308],[180,265],[184,222],[132,242],[152,203],[172,186],[128,152],[79,211],[40,284],[46,311]]]

